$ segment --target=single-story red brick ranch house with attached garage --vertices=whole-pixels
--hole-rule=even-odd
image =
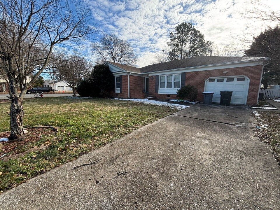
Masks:
[[[157,99],[178,99],[176,91],[191,84],[202,92],[214,91],[213,103],[220,102],[220,91],[233,91],[231,104],[256,104],[266,57],[197,56],[152,64],[142,68],[107,61],[115,78],[111,96]]]

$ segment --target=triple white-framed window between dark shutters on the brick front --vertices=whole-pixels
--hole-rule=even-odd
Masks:
[[[160,75],[160,89],[173,90],[181,87],[181,74]]]

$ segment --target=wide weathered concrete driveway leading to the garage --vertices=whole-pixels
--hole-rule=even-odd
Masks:
[[[4,192],[0,206],[280,209],[279,167],[254,123],[247,106],[191,106]],[[92,156],[104,158],[73,169]]]

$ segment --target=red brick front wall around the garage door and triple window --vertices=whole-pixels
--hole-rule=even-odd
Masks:
[[[227,71],[227,74],[223,73],[223,71]],[[228,76],[245,75],[250,79],[247,104],[256,104],[258,99],[258,90],[260,85],[261,73],[262,73],[262,65],[186,72],[186,84],[191,84],[197,87],[198,89],[197,100],[203,101],[203,95],[201,93],[204,92],[204,84],[206,79],[208,79],[209,77],[218,77],[218,76],[228,77]],[[177,99],[176,95],[170,95],[170,97],[167,97],[167,94],[155,93],[155,76],[153,76],[153,79],[152,76],[150,76],[150,94],[154,95],[158,99]]]

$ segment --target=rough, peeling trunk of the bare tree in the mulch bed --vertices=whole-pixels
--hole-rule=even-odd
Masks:
[[[11,134],[9,140],[17,139],[24,135],[23,132],[23,116],[24,110],[22,98],[18,95],[16,85],[10,82],[10,129]]]

